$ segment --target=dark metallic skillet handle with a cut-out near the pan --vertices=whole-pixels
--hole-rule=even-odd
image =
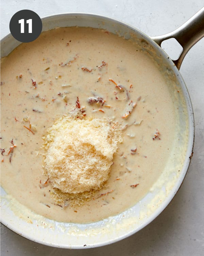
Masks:
[[[204,7],[195,13],[187,22],[174,31],[152,37],[152,39],[161,46],[164,40],[175,38],[183,47],[183,51],[177,60],[173,60],[178,69],[190,48],[204,37]]]

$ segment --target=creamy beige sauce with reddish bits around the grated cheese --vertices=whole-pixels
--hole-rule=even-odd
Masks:
[[[77,97],[87,116],[118,122],[123,143],[98,198],[62,208],[50,186],[41,185],[47,180],[41,144]],[[89,104],[90,97],[105,103]],[[137,105],[126,117],[131,101]],[[1,185],[32,211],[60,222],[89,223],[121,213],[148,193],[165,168],[176,111],[156,62],[133,42],[90,28],[43,32],[2,61]]]

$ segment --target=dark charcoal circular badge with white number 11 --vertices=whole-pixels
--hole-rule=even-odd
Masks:
[[[13,37],[23,43],[32,42],[42,31],[42,21],[37,13],[21,10],[13,15],[9,28]]]

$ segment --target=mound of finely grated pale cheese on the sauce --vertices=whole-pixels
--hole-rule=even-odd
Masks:
[[[73,112],[60,117],[43,137],[44,174],[57,202],[76,199],[77,195],[87,198],[87,191],[91,194],[101,188],[122,142],[117,123],[107,118],[78,117]]]

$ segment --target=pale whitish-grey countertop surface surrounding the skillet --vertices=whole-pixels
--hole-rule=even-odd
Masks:
[[[87,12],[128,23],[149,36],[182,25],[204,5],[203,0],[1,0],[1,39],[19,10],[40,17]],[[195,118],[194,154],[184,183],[168,207],[148,226],[114,244],[88,250],[53,248],[29,241],[1,225],[1,255],[204,255],[204,38],[185,57],[180,72]]]

